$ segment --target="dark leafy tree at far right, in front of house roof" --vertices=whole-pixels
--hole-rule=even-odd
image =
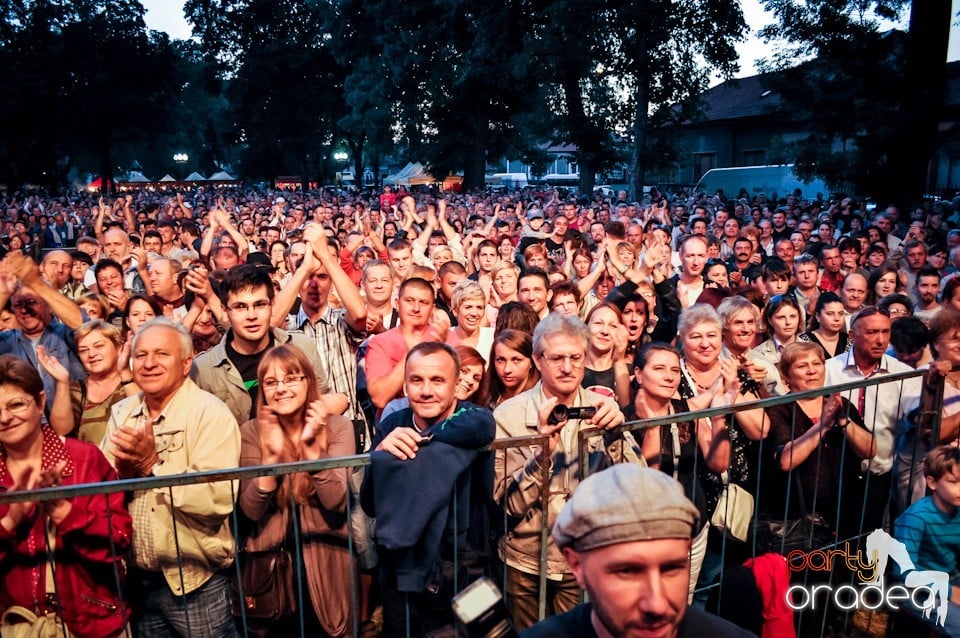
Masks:
[[[905,37],[881,31],[902,0],[764,4],[777,23],[761,35],[788,45],[763,68],[778,71],[783,117],[808,131],[788,148],[798,174],[883,202],[919,198],[944,103],[950,1],[910,3]]]

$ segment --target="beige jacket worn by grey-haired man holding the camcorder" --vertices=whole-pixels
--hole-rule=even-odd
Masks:
[[[599,394],[580,389],[574,406],[590,406]],[[537,434],[537,413],[546,396],[540,383],[512,399],[501,403],[493,412],[497,422],[497,439]],[[573,407],[573,406],[571,406]],[[580,484],[579,432],[591,427],[583,421],[571,421],[561,430],[561,440],[551,457],[550,485],[547,505],[548,531],[557,514]],[[596,436],[588,439],[589,473],[606,463],[644,463],[640,448],[629,433],[622,436]],[[540,501],[539,446],[523,446],[498,450],[495,456],[494,499],[506,510],[508,531],[500,545],[500,556],[515,569],[528,574],[540,572],[540,527],[543,504]],[[547,545],[547,577],[559,580],[570,572],[563,554],[550,539]]]

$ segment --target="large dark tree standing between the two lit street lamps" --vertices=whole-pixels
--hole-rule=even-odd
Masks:
[[[342,116],[343,69],[329,45],[331,5],[315,0],[190,0],[201,55],[229,78],[245,174],[321,171]]]

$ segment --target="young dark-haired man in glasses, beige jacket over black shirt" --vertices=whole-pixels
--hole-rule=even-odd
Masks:
[[[227,309],[230,329],[220,343],[193,360],[190,378],[226,403],[237,423],[246,423],[256,416],[253,406],[260,358],[274,346],[289,344],[300,348],[316,370],[327,411],[343,414],[347,397],[327,394],[326,366],[313,339],[301,332],[270,327],[274,292],[270,273],[263,268],[244,264],[227,271],[220,284],[220,299]]]

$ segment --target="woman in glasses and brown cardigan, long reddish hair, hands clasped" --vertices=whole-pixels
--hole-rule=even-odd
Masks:
[[[320,401],[316,373],[296,347],[269,350],[257,368],[257,418],[240,427],[241,466],[349,456],[356,452],[353,424],[329,414]],[[258,636],[345,636],[353,631],[351,565],[347,529],[347,468],[262,476],[240,483],[239,505],[252,522],[240,546],[273,551],[292,542],[299,525],[304,597],[298,613],[262,623],[248,619]],[[294,518],[295,517],[295,518]],[[238,553],[243,560],[243,552]]]

